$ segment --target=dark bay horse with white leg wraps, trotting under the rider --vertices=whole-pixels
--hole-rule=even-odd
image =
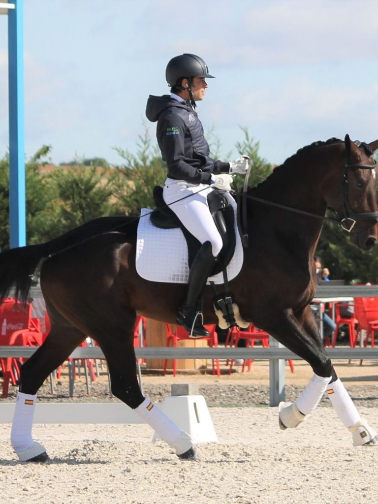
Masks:
[[[370,144],[319,141],[299,149],[268,178],[243,195],[249,246],[240,273],[229,282],[241,317],[267,331],[309,363],[313,377],[294,403],[280,403],[282,429],[301,424],[327,390],[354,446],[378,445],[333,368],[309,303],[316,291],[313,256],[327,208],[362,250],[378,242],[376,163]],[[196,457],[181,431],[139,388],[133,346],[137,314],[175,323],[185,285],[152,282],[136,271],[138,218],[103,217],[46,243],[0,255],[0,300],[12,289],[27,299],[33,273],[51,322],[44,343],[20,373],[11,443],[21,461],[43,462],[45,448],[32,438],[38,389],[87,335],[103,351],[115,397],[136,411],[182,459]],[[204,323],[217,318],[213,291],[204,292]]]

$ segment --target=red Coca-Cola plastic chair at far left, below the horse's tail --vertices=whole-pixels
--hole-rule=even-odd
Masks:
[[[0,346],[39,346],[43,341],[39,320],[32,318],[32,305],[16,302],[6,298],[0,305]],[[26,359],[15,357],[0,358],[3,370],[3,393],[7,397],[9,382],[17,385],[20,376],[20,365]]]

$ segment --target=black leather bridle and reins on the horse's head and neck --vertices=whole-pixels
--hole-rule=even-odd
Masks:
[[[357,145],[357,147],[363,146],[362,142],[355,141],[354,143]],[[244,241],[247,242],[247,240],[248,240],[248,236],[246,233],[246,222],[247,222],[246,200],[247,199],[254,200],[259,203],[263,203],[265,205],[273,206],[276,208],[281,208],[283,210],[288,210],[290,212],[294,212],[297,214],[307,215],[308,217],[314,217],[314,218],[321,219],[321,220],[336,222],[337,224],[340,224],[341,227],[345,231],[347,231],[348,233],[350,233],[352,231],[352,229],[354,228],[357,221],[371,220],[371,221],[378,222],[378,211],[377,212],[354,212],[354,210],[350,206],[349,199],[348,199],[348,187],[349,187],[348,171],[351,169],[373,170],[376,168],[377,163],[375,161],[372,164],[351,163],[349,157],[350,157],[350,154],[348,153],[348,157],[345,160],[344,173],[343,173],[343,206],[337,210],[335,210],[331,207],[328,207],[329,210],[332,210],[333,212],[335,212],[335,214],[338,216],[338,218],[326,217],[325,215],[313,214],[311,212],[306,212],[305,210],[299,210],[296,208],[288,207],[286,205],[281,205],[280,203],[274,203],[272,201],[264,200],[264,199],[258,198],[256,196],[248,195],[247,194],[248,179],[249,179],[250,173],[253,173],[251,171],[251,164],[249,164],[248,170],[245,174],[244,184],[243,184],[243,192],[242,192],[242,209],[241,209],[242,225],[241,225],[241,227],[243,229]],[[258,176],[260,177],[260,175],[258,175]],[[340,212],[340,209],[341,209],[341,212]],[[342,217],[342,215],[343,215],[343,217]]]

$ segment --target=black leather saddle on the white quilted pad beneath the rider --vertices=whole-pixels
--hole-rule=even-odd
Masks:
[[[161,229],[173,229],[177,227],[181,229],[187,243],[188,266],[190,268],[201,247],[201,243],[182,225],[176,214],[165,203],[163,200],[163,187],[155,185],[153,197],[156,209],[150,213],[152,224]],[[220,191],[213,190],[208,196],[208,203],[211,215],[223,241],[222,250],[217,257],[210,275],[213,276],[223,271],[234,255],[236,243],[235,220],[232,207]]]

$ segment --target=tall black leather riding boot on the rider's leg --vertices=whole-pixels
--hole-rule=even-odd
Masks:
[[[213,269],[215,257],[210,241],[205,241],[194,258],[189,272],[188,290],[184,304],[178,310],[177,324],[183,326],[192,338],[209,336],[203,327],[201,312],[202,293]]]

